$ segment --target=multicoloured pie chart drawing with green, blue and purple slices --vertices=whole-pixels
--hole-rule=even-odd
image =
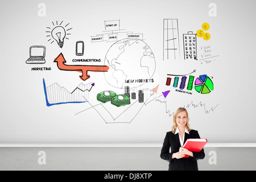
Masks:
[[[207,75],[200,75],[195,81],[195,90],[201,94],[208,94],[213,90],[213,82]]]

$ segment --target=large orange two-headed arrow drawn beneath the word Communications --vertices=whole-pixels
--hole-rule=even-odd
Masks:
[[[106,72],[106,71],[109,70],[109,67],[105,66],[105,65],[103,65],[103,66],[97,66],[97,65],[66,65],[65,63],[67,63],[67,61],[65,60],[62,53],[60,53],[60,55],[57,56],[53,62],[57,63],[57,67],[60,70],[77,71],[77,72],[82,73],[80,78],[84,81],[87,80],[90,77],[90,75],[88,75],[88,71],[90,71],[90,72]]]

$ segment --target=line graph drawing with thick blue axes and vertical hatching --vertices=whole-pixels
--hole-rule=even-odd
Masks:
[[[89,92],[94,86],[93,84],[80,84],[73,92],[69,92],[64,87],[55,83],[46,87],[46,82],[43,78],[44,95],[46,96],[46,105],[60,105],[60,104],[79,104],[88,101]]]

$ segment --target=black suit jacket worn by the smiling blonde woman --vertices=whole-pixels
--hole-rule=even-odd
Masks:
[[[191,130],[189,134],[184,133],[185,138],[184,142],[188,138],[200,138],[199,133],[196,130]],[[171,152],[170,152],[171,147]],[[204,159],[204,148],[200,152],[193,152],[193,157],[181,158],[181,159],[172,159],[172,154],[179,152],[180,148],[179,133],[174,134],[172,131],[166,133],[166,138],[164,138],[163,147],[161,150],[160,157],[169,162],[169,171],[179,171],[179,170],[198,170],[197,160]]]

